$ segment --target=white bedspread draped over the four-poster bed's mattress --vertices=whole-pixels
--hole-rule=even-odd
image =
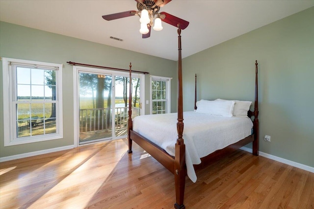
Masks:
[[[137,116],[133,119],[133,130],[175,156],[177,118],[177,113]],[[200,158],[251,135],[253,127],[248,117],[184,112],[183,118],[185,163],[192,182],[197,180],[193,164],[199,164]]]

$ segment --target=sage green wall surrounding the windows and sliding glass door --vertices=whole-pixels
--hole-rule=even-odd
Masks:
[[[178,49],[173,49],[178,53]],[[76,38],[62,36],[15,24],[0,22],[0,57],[33,60],[63,64],[63,135],[64,139],[28,143],[16,146],[3,146],[3,93],[2,62],[0,63],[0,157],[18,155],[56,147],[73,145],[73,66],[67,61],[86,63],[112,68],[147,71],[145,76],[145,100],[150,100],[149,75],[173,77],[178,79],[177,62],[146,54],[105,46]],[[177,110],[177,83],[171,84],[171,111]],[[145,113],[149,105],[145,104]]]

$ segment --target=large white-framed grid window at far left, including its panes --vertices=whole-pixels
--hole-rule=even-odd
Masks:
[[[61,139],[62,65],[3,58],[4,146]]]

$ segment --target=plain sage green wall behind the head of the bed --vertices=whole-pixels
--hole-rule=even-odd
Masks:
[[[184,111],[195,73],[198,99],[254,101],[255,60],[260,151],[314,167],[314,7],[184,58]]]

